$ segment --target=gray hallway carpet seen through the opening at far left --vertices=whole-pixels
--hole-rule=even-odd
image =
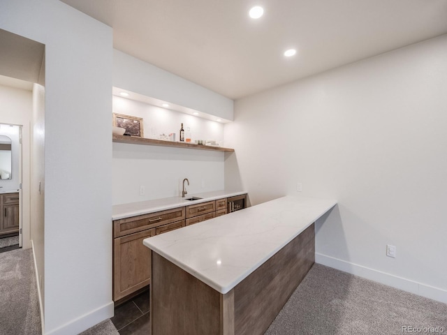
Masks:
[[[0,333],[42,334],[31,249],[0,253]]]

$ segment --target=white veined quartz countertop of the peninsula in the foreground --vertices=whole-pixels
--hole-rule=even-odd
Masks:
[[[149,237],[143,244],[226,294],[335,204],[286,196]]]

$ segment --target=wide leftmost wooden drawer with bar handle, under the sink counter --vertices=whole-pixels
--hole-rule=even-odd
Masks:
[[[113,237],[120,237],[149,228],[156,228],[176,221],[184,220],[184,207],[156,211],[155,213],[122,218],[113,221]]]

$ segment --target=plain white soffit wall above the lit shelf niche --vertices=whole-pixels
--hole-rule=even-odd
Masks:
[[[119,50],[113,50],[113,86],[233,120],[233,100]]]

